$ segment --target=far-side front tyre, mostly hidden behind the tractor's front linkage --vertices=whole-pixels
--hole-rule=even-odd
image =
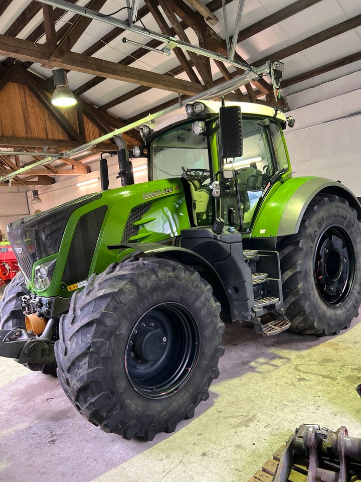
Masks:
[[[22,309],[21,297],[28,293],[24,289],[25,279],[21,272],[7,285],[3,298],[0,302],[0,329],[12,330],[14,328],[25,329],[25,317]],[[33,372],[42,372],[45,375],[56,376],[56,363],[26,363],[24,367]]]

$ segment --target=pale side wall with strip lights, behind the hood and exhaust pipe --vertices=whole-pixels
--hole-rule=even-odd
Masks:
[[[146,165],[146,159],[134,159],[132,160],[133,167],[135,171],[137,171],[138,167]],[[46,211],[55,206],[59,206],[64,202],[71,201],[72,199],[76,199],[78,197],[84,196],[85,194],[90,194],[92,192],[98,192],[101,190],[100,186],[100,172],[98,170],[99,161],[91,165],[91,168],[94,169],[89,174],[83,174],[81,176],[62,176],[62,180],[60,182],[56,182],[55,184],[51,184],[49,186],[44,186],[38,188],[39,196],[42,200],[42,203],[32,204],[31,191],[28,192],[28,199],[29,199],[29,206],[30,211],[33,214],[34,210],[40,209],[41,211]],[[109,169],[109,189],[113,189],[116,187],[121,187],[120,179],[116,179],[118,175],[118,164],[116,157],[112,159],[108,159],[108,169]],[[65,179],[64,179],[65,178]],[[88,184],[85,186],[77,186],[77,183],[82,181],[91,180],[98,178],[97,182],[92,184]],[[141,170],[138,172],[134,172],[134,181],[135,183],[145,182],[148,179],[148,174],[146,170]]]

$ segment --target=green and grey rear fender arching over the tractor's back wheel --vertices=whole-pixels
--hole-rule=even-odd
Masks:
[[[323,177],[294,177],[266,196],[255,219],[251,237],[288,236],[298,232],[303,214],[317,194],[343,197],[361,219],[361,205],[345,186]]]

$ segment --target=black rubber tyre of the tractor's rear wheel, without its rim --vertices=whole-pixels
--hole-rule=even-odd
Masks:
[[[346,299],[329,306],[317,291],[314,255],[322,233],[333,225],[348,234],[354,253],[353,284]],[[284,308],[291,329],[331,335],[348,328],[361,301],[361,224],[348,202],[330,194],[316,196],[306,209],[299,232],[280,243]]]

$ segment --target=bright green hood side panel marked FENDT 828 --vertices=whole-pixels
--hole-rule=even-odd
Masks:
[[[100,199],[76,209],[71,214],[59,252],[34,264],[32,279],[36,266],[50,260],[57,260],[49,287],[45,290],[37,290],[33,282],[30,281],[27,285],[28,289],[44,297],[61,296],[70,298],[74,290],[68,291],[68,286],[62,282],[62,275],[80,217],[101,206],[108,206],[89,271],[90,276],[93,273],[101,273],[111,263],[119,261],[132,251],[109,250],[108,246],[121,244],[123,229],[130,211],[134,207],[145,204],[150,205],[150,208],[141,220],[137,221],[138,235],[135,238],[130,238],[130,240],[159,243],[178,235],[182,229],[190,227],[184,188],[182,181],[178,178],[145,182],[103,191]]]

